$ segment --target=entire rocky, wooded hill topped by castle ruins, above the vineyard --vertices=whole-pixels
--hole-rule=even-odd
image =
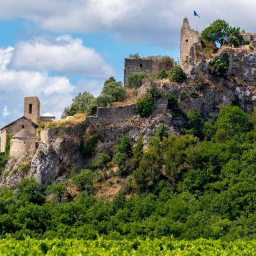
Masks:
[[[62,121],[26,121],[26,153],[22,134],[6,137],[1,235],[254,239],[254,34],[218,22],[219,49],[184,19],[180,65],[134,54],[124,87],[110,77]]]

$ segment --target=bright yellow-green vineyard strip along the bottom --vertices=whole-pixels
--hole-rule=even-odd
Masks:
[[[256,240],[0,240],[0,255],[256,255]]]

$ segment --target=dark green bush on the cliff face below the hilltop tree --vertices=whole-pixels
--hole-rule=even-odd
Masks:
[[[210,72],[215,76],[223,77],[229,70],[229,54],[224,53],[221,57],[215,56],[210,61]]]

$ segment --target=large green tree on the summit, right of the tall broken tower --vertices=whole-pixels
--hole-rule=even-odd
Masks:
[[[220,44],[237,44],[239,42],[240,27],[231,27],[226,21],[217,19],[202,31],[202,38]],[[235,45],[235,46],[237,46]]]

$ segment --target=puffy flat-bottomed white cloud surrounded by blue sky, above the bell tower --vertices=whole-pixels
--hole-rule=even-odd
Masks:
[[[14,69],[59,71],[89,77],[109,77],[114,69],[93,48],[83,46],[82,40],[69,35],[47,41],[37,38],[19,42],[13,51],[10,66]]]

